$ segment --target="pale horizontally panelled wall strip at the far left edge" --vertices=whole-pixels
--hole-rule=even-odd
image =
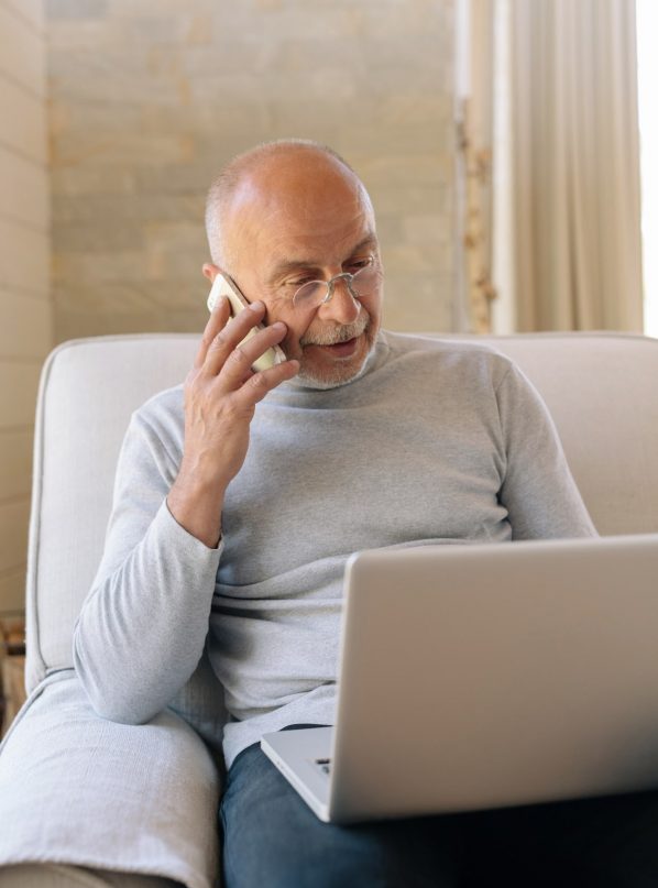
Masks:
[[[0,0],[0,614],[23,606],[32,431],[53,342],[43,0]]]

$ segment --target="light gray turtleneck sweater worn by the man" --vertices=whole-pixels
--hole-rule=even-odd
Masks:
[[[183,429],[182,387],[132,417],[74,658],[96,710],[139,723],[189,679],[208,635],[228,765],[266,731],[332,723],[351,552],[595,533],[542,402],[481,346],[381,335],[359,380],[271,392],[218,549],[166,506]]]

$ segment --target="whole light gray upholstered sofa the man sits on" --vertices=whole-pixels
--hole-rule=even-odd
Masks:
[[[658,531],[658,340],[569,333],[481,341],[514,358],[542,393],[599,530]],[[0,747],[0,867],[59,862],[166,876],[189,888],[209,888],[218,873],[223,705],[205,658],[172,706],[140,726],[96,716],[72,662],[73,625],[102,549],[129,416],[185,377],[196,343],[187,335],[79,340],[56,349],[44,368],[29,699]]]

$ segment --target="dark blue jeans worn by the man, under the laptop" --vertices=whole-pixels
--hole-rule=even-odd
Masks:
[[[338,826],[255,745],[220,815],[226,888],[658,886],[658,792]]]

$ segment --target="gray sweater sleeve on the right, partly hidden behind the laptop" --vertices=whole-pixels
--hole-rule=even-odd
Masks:
[[[548,408],[515,365],[496,398],[506,454],[500,500],[513,539],[596,536]]]

